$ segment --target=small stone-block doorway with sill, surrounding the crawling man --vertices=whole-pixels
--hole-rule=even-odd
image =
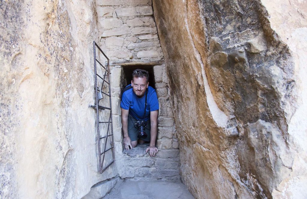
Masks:
[[[151,158],[146,148],[149,144],[138,145],[129,151],[123,149],[123,134],[120,116],[120,93],[112,99],[114,107],[113,126],[115,139],[115,159],[121,178],[134,180],[165,180],[181,182],[179,175],[179,149],[174,117],[169,101],[165,65],[157,66],[113,66],[111,74],[117,81],[111,82],[112,90],[122,90],[129,84],[133,70],[148,70],[150,86],[156,89],[159,101],[157,148],[155,157]],[[115,78],[116,77],[116,78]]]

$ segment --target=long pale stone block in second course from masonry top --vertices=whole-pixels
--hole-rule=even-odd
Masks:
[[[152,15],[151,6],[119,7],[115,9],[117,17]]]

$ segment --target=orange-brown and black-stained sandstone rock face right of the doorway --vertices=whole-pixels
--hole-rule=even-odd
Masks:
[[[305,8],[153,1],[181,177],[195,197],[306,197]]]

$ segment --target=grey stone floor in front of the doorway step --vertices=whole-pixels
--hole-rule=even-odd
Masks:
[[[103,199],[194,199],[182,183],[120,180]]]

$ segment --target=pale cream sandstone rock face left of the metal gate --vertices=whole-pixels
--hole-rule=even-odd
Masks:
[[[0,2],[0,197],[81,198],[100,174],[92,1]]]

